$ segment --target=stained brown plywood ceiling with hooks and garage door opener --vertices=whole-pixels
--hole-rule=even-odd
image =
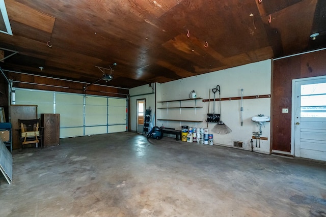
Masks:
[[[6,58],[3,69],[92,83],[103,76],[95,66],[117,63],[113,80],[98,83],[124,88],[326,47],[324,0],[5,4],[13,36],[0,34],[0,49],[19,53]]]

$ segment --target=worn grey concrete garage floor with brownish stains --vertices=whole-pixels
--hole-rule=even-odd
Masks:
[[[124,132],[13,152],[0,216],[326,216],[326,164]]]

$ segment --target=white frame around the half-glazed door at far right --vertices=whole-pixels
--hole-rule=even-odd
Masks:
[[[292,109],[291,109],[291,155],[295,156],[295,144],[294,144],[294,125],[295,125],[295,83],[301,81],[309,81],[309,80],[319,80],[326,79],[326,75],[309,77],[309,78],[298,78],[292,80]]]

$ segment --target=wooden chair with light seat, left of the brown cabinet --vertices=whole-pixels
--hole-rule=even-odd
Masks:
[[[29,119],[23,120],[18,119],[19,123],[19,136],[21,141],[21,148],[26,144],[35,143],[35,146],[38,147],[40,143],[41,148],[42,144],[42,132],[40,131],[40,119]]]

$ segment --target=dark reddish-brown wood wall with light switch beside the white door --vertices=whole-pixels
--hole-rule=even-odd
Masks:
[[[271,99],[271,144],[273,150],[291,151],[292,80],[326,75],[326,51],[274,61]],[[289,113],[282,113],[289,108]]]

